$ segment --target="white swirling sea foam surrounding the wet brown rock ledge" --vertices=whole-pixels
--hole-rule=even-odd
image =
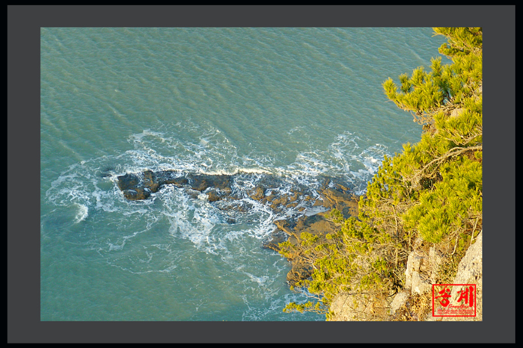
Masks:
[[[291,133],[305,130],[299,126]],[[218,130],[201,132],[196,143],[184,143],[176,136],[169,137],[155,130],[131,135],[130,140],[134,149],[119,156],[103,156],[75,164],[62,173],[47,192],[48,199],[55,204],[76,204],[76,223],[85,221],[89,215],[96,222],[94,217],[100,214],[93,212],[104,212],[101,216],[105,218],[107,214],[112,214],[110,219],[115,222],[115,235],[100,239],[104,245],[100,248],[111,252],[134,250],[139,243],[126,246],[127,239],[155,228],[159,221],[164,220],[168,221],[168,233],[172,240],[188,240],[199,251],[228,257],[237,248],[238,242],[246,237],[267,238],[274,230],[273,222],[277,219],[299,214],[310,216],[325,211],[303,199],[297,201],[296,207],[276,213],[268,205],[252,200],[247,192],[255,188],[264,175],[279,177],[280,187],[271,188],[277,194],[292,194],[295,185],[300,184],[311,189],[310,194],[317,198],[319,194],[314,188],[320,185],[320,175],[343,176],[347,182],[354,183],[355,190],[363,190],[380,165],[380,158],[386,153],[384,146],[364,145],[364,140],[347,132],[337,136],[324,150],[304,149],[296,156],[294,163],[286,167],[273,167],[270,156],[239,157],[236,147]],[[109,167],[110,170],[105,169]],[[173,185],[165,185],[147,200],[126,200],[117,188],[117,177],[143,170],[175,170],[180,175],[187,172],[233,175],[232,192],[240,198],[235,202],[249,204],[252,208],[247,212],[222,211],[219,209],[221,202],[211,204],[207,194],[199,193],[195,200],[183,188]],[[103,177],[100,177],[100,172]],[[299,208],[305,210],[299,212]],[[233,225],[228,224],[230,219],[234,219]],[[144,227],[144,224],[147,226]],[[129,228],[138,228],[139,232],[126,234]],[[149,256],[143,257],[143,260],[148,259]],[[169,267],[163,265],[162,270],[169,270]],[[264,282],[263,277],[254,277],[253,280],[259,284]]]

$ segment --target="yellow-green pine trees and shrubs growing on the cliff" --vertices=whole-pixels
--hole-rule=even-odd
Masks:
[[[328,317],[340,293],[359,293],[384,306],[404,285],[408,253],[433,246],[445,255],[442,283],[482,230],[482,29],[434,28],[447,37],[439,48],[452,63],[431,61],[383,83],[385,95],[410,112],[424,132],[417,144],[385,157],[359,201],[359,216],[343,219],[325,238],[302,235],[302,253],[314,254],[312,277],[294,286],[312,300],[285,311]],[[280,253],[288,255],[289,243]],[[383,319],[383,318],[379,318]]]

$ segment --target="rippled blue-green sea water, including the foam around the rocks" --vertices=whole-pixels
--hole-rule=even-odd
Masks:
[[[235,173],[241,195],[266,173],[333,176],[361,194],[422,132],[382,82],[443,42],[430,28],[42,28],[41,320],[324,320],[282,311],[306,297],[261,248],[293,212],[168,186],[128,201],[117,177]]]

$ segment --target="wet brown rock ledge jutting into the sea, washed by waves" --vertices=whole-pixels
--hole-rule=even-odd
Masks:
[[[256,174],[254,176],[257,176],[257,180],[252,180],[248,176],[247,173],[210,175],[146,170],[127,173],[117,179],[118,188],[124,197],[132,201],[148,199],[164,185],[174,185],[184,188],[192,198],[198,198],[200,193],[207,194],[209,202],[222,211],[248,212],[253,208],[251,202],[256,201],[269,207],[275,214],[286,213],[288,216],[285,219],[274,221],[275,229],[269,240],[263,243],[263,248],[275,251],[280,250],[279,243],[283,241],[298,245],[304,232],[319,237],[334,232],[337,225],[327,218],[333,208],[345,218],[358,214],[357,196],[337,178],[323,177],[317,187],[311,188],[289,178]],[[254,187],[236,190],[244,181],[255,182]],[[293,285],[311,276],[312,267],[299,251],[287,258],[292,265],[287,275],[289,284]]]

